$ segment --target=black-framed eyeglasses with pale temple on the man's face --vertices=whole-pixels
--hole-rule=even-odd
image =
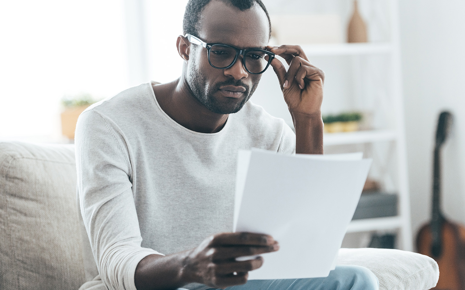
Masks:
[[[206,43],[191,34],[186,34],[185,37],[190,43],[205,47],[208,52],[208,62],[220,70],[232,67],[239,55],[242,55],[242,64],[246,71],[258,75],[266,71],[274,58],[274,53],[262,49],[239,49],[221,43]],[[267,55],[268,60],[265,59]]]

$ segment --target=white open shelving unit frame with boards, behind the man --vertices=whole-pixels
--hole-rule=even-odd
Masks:
[[[391,11],[391,41],[384,43],[358,43],[358,44],[335,44],[335,45],[304,45],[303,48],[309,58],[317,56],[348,56],[352,58],[352,64],[356,67],[354,74],[360,73],[363,66],[361,57],[383,55],[389,60],[386,66],[368,68],[371,70],[389,70],[386,79],[391,85],[391,90],[386,94],[392,103],[393,122],[385,124],[384,129],[373,129],[353,133],[329,133],[324,136],[325,147],[333,145],[349,144],[372,144],[376,146],[379,142],[389,142],[393,146],[396,157],[396,168],[392,174],[397,175],[396,191],[399,195],[398,215],[395,217],[358,219],[353,220],[347,232],[370,232],[370,231],[396,231],[398,232],[398,246],[407,251],[412,251],[412,232],[410,221],[410,198],[408,192],[408,180],[406,169],[406,152],[402,106],[402,77],[400,70],[400,47],[398,27],[398,3],[397,0],[389,0]],[[367,68],[365,68],[367,69]],[[357,71],[358,70],[358,71]],[[355,77],[361,77],[355,76]],[[389,159],[389,157],[388,157]]]

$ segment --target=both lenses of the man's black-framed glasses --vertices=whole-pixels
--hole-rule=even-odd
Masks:
[[[233,63],[237,51],[226,45],[212,45],[210,48],[210,63],[217,68],[225,68]],[[248,51],[245,57],[246,69],[252,73],[260,73],[268,64],[266,52]],[[238,60],[239,61],[239,60]]]

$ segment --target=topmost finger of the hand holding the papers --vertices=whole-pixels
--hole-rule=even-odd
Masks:
[[[225,232],[215,235],[210,245],[237,246],[237,245],[273,245],[274,239],[270,235],[253,232]]]

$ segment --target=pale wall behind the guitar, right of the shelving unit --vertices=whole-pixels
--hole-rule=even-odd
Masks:
[[[432,149],[438,113],[455,122],[443,152],[443,208],[465,224],[465,2],[400,0],[405,121],[416,234],[430,217]]]

